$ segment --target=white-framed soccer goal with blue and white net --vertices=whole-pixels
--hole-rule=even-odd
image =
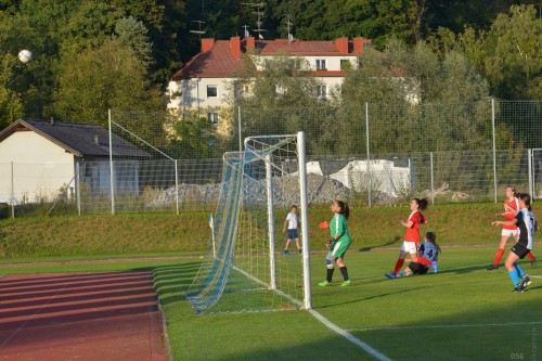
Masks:
[[[223,156],[221,194],[207,255],[185,297],[196,314],[310,309],[305,136],[250,137]],[[292,205],[301,253],[284,255]]]

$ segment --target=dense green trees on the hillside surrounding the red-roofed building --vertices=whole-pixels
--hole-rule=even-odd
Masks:
[[[256,16],[268,39],[288,31],[302,40],[373,39],[386,57],[370,52],[359,69],[348,72],[346,107],[404,102],[405,85],[382,76],[396,69],[420,80],[423,102],[542,99],[537,1],[269,0],[256,9],[233,0],[0,0],[0,128],[20,117],[105,126],[107,108],[164,109],[168,79],[199,50],[191,30],[202,25],[205,37],[227,39],[247,25],[254,35]],[[22,49],[33,51],[31,62],[18,62]],[[255,94],[261,96],[245,99],[245,105],[310,107],[320,101],[307,90],[313,80],[280,69],[259,75]],[[289,96],[266,95],[278,82]],[[180,127],[181,134],[194,133],[194,126]],[[197,139],[189,143],[201,149]]]

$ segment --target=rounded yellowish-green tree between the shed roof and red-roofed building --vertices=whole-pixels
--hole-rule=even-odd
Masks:
[[[117,40],[79,54],[64,53],[64,72],[54,94],[54,111],[62,119],[107,127],[107,109],[157,108],[162,98],[145,76],[133,50]]]

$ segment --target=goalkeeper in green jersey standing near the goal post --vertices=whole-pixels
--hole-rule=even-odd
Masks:
[[[335,214],[330,222],[331,238],[327,241],[325,248],[327,249],[327,257],[325,263],[327,266],[327,276],[325,281],[319,283],[319,286],[328,286],[332,283],[333,271],[335,263],[343,274],[341,286],[349,286],[350,279],[348,278],[348,270],[345,265],[345,254],[350,247],[350,234],[348,233],[348,216],[350,208],[348,204],[343,201],[334,201],[332,204],[332,211]]]

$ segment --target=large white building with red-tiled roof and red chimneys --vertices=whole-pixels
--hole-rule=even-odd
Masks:
[[[291,55],[301,57],[318,79],[318,96],[326,98],[331,89],[343,82],[346,70],[357,68],[371,39],[349,41],[256,40],[254,37],[230,40],[202,39],[202,51],[177,72],[168,85],[168,108],[185,113],[198,112],[218,124],[218,111],[224,93],[242,70],[242,54],[250,54],[257,70],[264,72],[267,60]]]

